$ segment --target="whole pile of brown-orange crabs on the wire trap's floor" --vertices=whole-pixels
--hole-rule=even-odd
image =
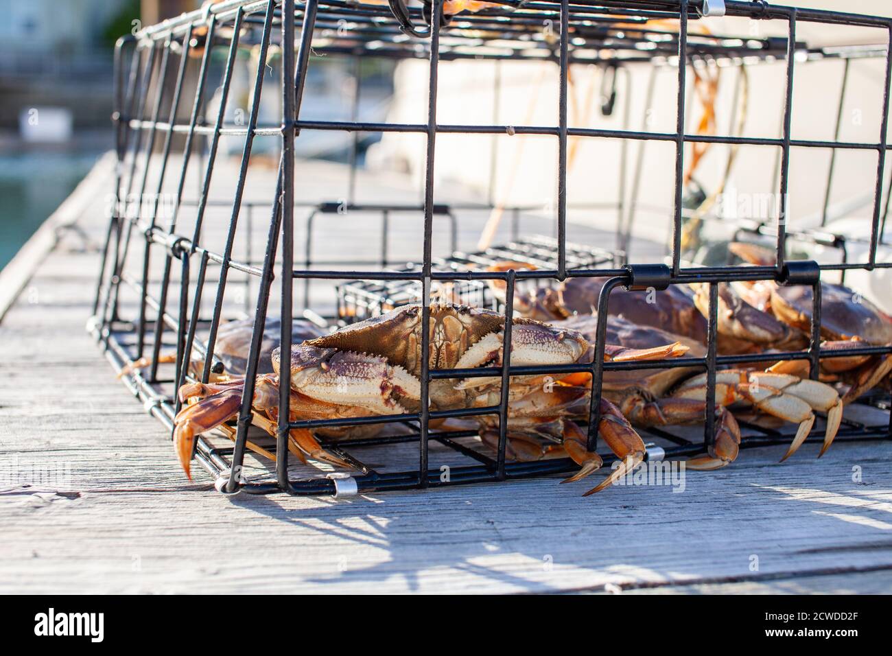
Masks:
[[[764,263],[770,253],[755,245],[732,250],[749,262]],[[503,269],[523,265],[504,262]],[[511,323],[510,364],[591,363],[598,323],[596,306],[603,278],[567,278],[558,286],[516,294]],[[498,296],[503,287],[493,283]],[[644,294],[617,289],[610,296],[605,361],[650,361],[702,357],[706,353],[706,286],[669,286]],[[767,369],[716,372],[715,407],[706,403],[702,367],[606,370],[599,405],[599,437],[621,464],[586,494],[610,486],[646,457],[635,427],[703,424],[715,413],[714,439],[687,461],[691,469],[724,467],[738,455],[740,429],[734,413],[798,424],[784,459],[796,452],[814,427],[815,412],[826,413],[821,454],[833,441],[845,404],[877,386],[890,386],[892,355],[855,354],[821,360],[819,380],[808,378],[807,361],[784,360],[783,352],[807,348],[812,290],[772,282],[727,283],[718,287],[719,353],[776,351]],[[430,306],[428,361],[431,370],[500,367],[505,317],[495,311],[453,303]],[[303,320],[293,326],[293,347],[283,358],[277,348],[276,320],[265,327],[260,369],[254,386],[252,423],[276,434],[280,379],[290,376],[290,420],[350,419],[420,410],[422,307],[406,305],[329,334]],[[252,320],[219,328],[215,353],[223,363],[207,383],[187,382],[178,394],[183,403],[175,418],[174,444],[186,475],[197,436],[227,428],[241,405],[244,362]],[[845,286],[822,283],[822,349],[847,350],[863,345],[892,345],[892,319]],[[137,363],[139,366],[142,363]],[[285,365],[285,369],[283,369]],[[498,405],[501,377],[436,378],[430,382],[431,410]],[[601,467],[588,450],[578,423],[588,420],[591,374],[512,376],[508,388],[506,457],[536,461],[567,457],[580,469],[577,481]],[[474,418],[485,448],[497,449],[499,418]],[[380,425],[293,429],[289,450],[302,461],[324,461],[350,468],[326,450],[326,440],[368,436]],[[448,430],[450,419],[431,422]],[[232,429],[229,428],[231,431]],[[260,447],[252,446],[259,453]],[[274,454],[266,453],[269,457]]]

